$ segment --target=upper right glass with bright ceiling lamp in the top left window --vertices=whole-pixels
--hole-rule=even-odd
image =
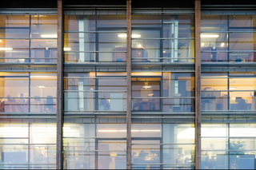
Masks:
[[[31,38],[57,38],[57,15],[31,15]]]

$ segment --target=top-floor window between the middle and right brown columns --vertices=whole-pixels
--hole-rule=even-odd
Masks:
[[[194,15],[182,12],[133,10],[132,61],[194,62]]]

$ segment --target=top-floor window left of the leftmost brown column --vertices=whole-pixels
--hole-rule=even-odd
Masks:
[[[57,62],[57,15],[0,15],[0,62]]]

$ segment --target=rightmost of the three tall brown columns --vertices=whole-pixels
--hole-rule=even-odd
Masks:
[[[201,169],[201,1],[194,1],[195,36],[195,168]]]

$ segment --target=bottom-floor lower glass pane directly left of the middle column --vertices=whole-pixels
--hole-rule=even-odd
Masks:
[[[126,140],[98,140],[98,150],[99,169],[126,169]]]

